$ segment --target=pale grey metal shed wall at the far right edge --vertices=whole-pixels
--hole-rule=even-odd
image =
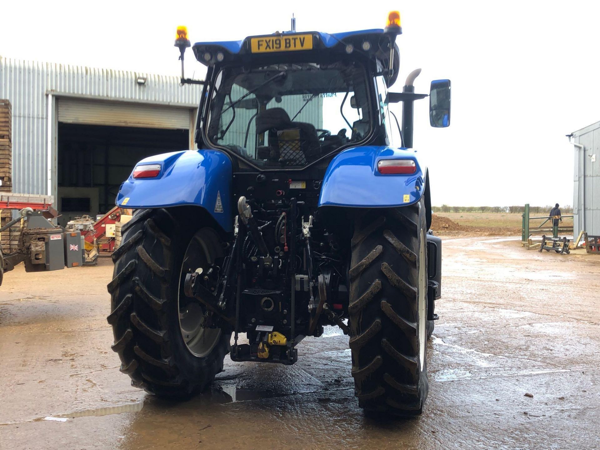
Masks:
[[[600,122],[573,133],[575,179],[573,214],[575,236],[581,230],[600,235]]]

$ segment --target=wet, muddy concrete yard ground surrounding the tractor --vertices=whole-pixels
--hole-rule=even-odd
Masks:
[[[0,448],[600,448],[600,258],[493,238],[444,252],[429,398],[395,421],[358,408],[337,328],[292,367],[226,357],[206,394],[146,395],[110,350],[110,260],[21,266],[0,287]]]

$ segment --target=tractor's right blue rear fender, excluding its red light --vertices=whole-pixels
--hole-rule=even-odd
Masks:
[[[383,175],[377,170],[379,160],[410,159],[416,172],[410,175]],[[424,191],[427,169],[416,151],[386,146],[362,146],[344,150],[329,163],[323,178],[319,206],[386,208],[418,202]],[[407,195],[408,201],[404,201]]]

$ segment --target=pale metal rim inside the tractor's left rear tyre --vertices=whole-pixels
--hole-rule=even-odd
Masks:
[[[206,272],[214,263],[209,250],[211,248],[209,239],[211,238],[200,230],[188,244],[179,272],[179,295],[177,298],[181,336],[190,353],[200,358],[212,352],[221,337],[221,329],[204,328],[205,309],[196,300],[185,296],[184,282],[185,275],[195,271]]]

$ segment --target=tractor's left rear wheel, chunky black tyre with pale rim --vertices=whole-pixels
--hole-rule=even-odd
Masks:
[[[136,211],[122,227],[108,285],[121,372],[131,385],[184,398],[207,388],[223,370],[231,331],[204,328],[204,311],[184,294],[188,272],[222,266],[223,247],[210,227],[178,220],[176,209]]]

